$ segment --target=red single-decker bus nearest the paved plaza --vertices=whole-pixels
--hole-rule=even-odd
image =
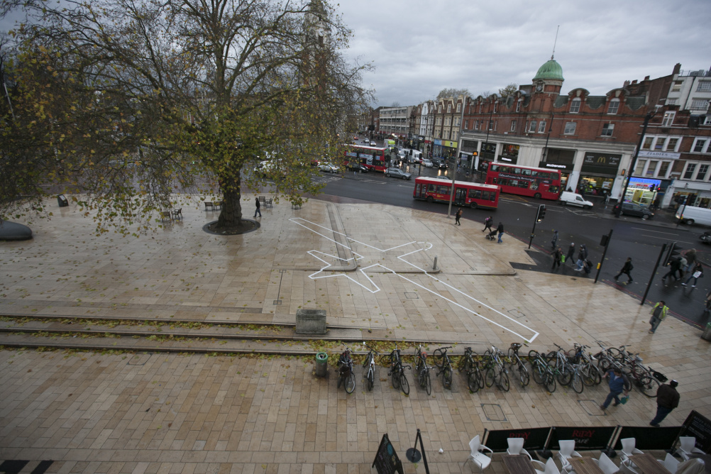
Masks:
[[[469,181],[454,181],[454,200],[456,206],[469,206],[472,209],[498,208],[498,186],[469,183]],[[427,200],[428,203],[441,201],[449,203],[451,181],[437,178],[415,178],[415,199]]]

